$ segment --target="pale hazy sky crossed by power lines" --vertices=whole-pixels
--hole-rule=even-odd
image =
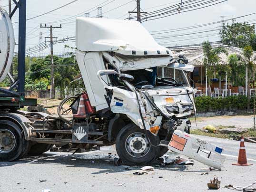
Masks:
[[[33,18],[40,14],[46,13],[50,10],[54,10],[62,5],[65,5],[73,0],[27,0],[27,19]],[[185,0],[183,0],[185,1]],[[163,9],[167,6],[171,6],[179,3],[180,0],[141,0],[141,10],[150,12],[158,9]],[[101,5],[100,5],[101,4]],[[8,0],[0,0],[1,6],[8,5]],[[53,35],[58,39],[73,37],[75,36],[75,16],[82,15],[89,12],[90,17],[97,16],[97,7],[102,6],[102,13],[104,18],[108,19],[126,19],[129,17],[128,11],[136,9],[136,0],[77,0],[70,5],[63,7],[59,10],[53,11],[44,16],[30,19],[27,21],[26,29],[26,48],[27,53],[30,56],[39,56],[38,50],[29,52],[29,48],[33,48],[39,45],[39,32],[42,32],[42,42],[45,41],[45,37],[49,37],[49,29],[40,28],[40,23],[43,25],[53,25],[58,27],[62,24],[61,29],[54,29]],[[207,7],[201,10],[193,10],[185,13],[179,13],[162,19],[156,19],[151,21],[143,22],[142,25],[151,32],[160,31],[167,29],[178,29],[185,28],[189,26],[195,26],[210,22],[215,22],[221,20],[221,16],[224,19],[231,19],[239,17],[242,15],[250,14],[256,12],[256,0],[227,0],[223,3]],[[14,8],[14,5],[12,5]],[[5,7],[8,10],[8,7]],[[136,11],[136,10],[135,10]],[[135,16],[135,15],[131,15]],[[70,18],[71,17],[71,18]],[[14,33],[16,38],[16,43],[18,44],[18,21],[19,14],[18,11],[14,14],[12,18]],[[256,14],[236,19],[238,22],[248,21],[249,23],[256,22]],[[230,21],[228,21],[230,22]],[[199,34],[198,31],[208,31],[220,28],[220,23],[209,25],[196,29],[184,29],[179,31],[167,31],[165,34],[155,34],[154,38],[158,41],[160,45],[166,47],[179,46],[179,45],[189,45],[202,43],[205,40],[218,41],[219,35],[218,31],[209,31]],[[188,35],[184,35],[188,34]],[[181,36],[182,35],[182,36]],[[167,38],[161,38],[162,36],[168,36]],[[171,37],[169,37],[171,36]],[[175,37],[174,37],[175,36]],[[160,38],[159,38],[160,37]],[[69,45],[70,47],[75,47],[74,42],[64,42],[54,45],[54,54],[61,55],[63,52],[71,51],[70,48],[64,48],[64,45]],[[18,46],[16,46],[17,51]],[[41,51],[40,55],[48,55],[50,52],[49,48]]]

